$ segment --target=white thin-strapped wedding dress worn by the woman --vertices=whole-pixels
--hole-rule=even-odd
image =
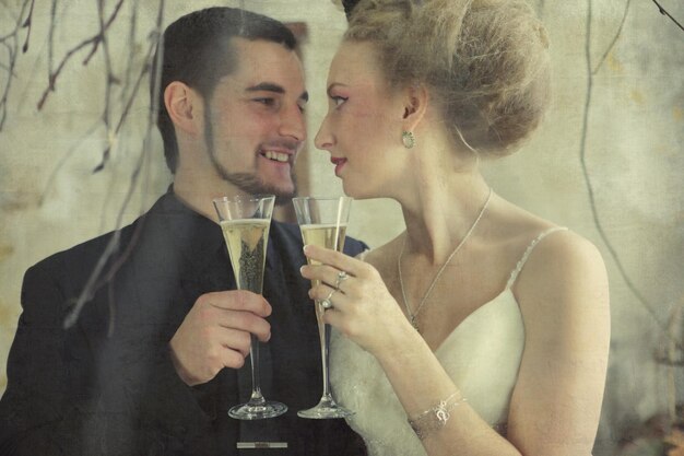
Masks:
[[[524,348],[524,326],[511,291],[538,236],[512,270],[506,288],[469,315],[435,355],[468,404],[495,429],[506,425],[508,406]],[[369,456],[420,456],[425,451],[376,359],[333,332],[330,378],[335,399],[355,411],[349,424],[366,442]]]

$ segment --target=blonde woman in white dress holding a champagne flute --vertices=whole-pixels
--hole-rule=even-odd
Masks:
[[[316,145],[344,191],[406,230],[365,258],[307,246],[337,398],[370,455],[589,455],[610,340],[606,273],[580,235],[506,201],[480,160],[549,98],[524,0],[362,0]]]

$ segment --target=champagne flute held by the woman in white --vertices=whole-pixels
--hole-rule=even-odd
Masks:
[[[318,245],[342,252],[346,225],[349,220],[352,198],[293,198],[292,200],[297,214],[297,222],[302,231],[305,245]],[[310,261],[309,264],[317,264]],[[317,285],[319,281],[314,281]],[[330,393],[329,378],[329,348],[330,325],[323,323],[323,308],[321,301],[316,301],[316,319],[318,320],[318,335],[320,337],[320,350],[323,371],[323,394],[314,408],[300,410],[297,414],[302,418],[327,419],[344,418],[354,414],[353,411],[339,406]]]

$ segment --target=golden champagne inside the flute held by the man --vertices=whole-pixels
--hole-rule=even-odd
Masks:
[[[221,222],[237,288],[240,290],[262,292],[270,226],[270,221],[259,219]]]

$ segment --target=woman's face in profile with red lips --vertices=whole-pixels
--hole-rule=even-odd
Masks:
[[[345,194],[392,196],[399,159],[405,155],[400,151],[403,113],[400,92],[388,87],[375,46],[343,43],[330,66],[328,114],[316,135],[316,147],[330,152]]]

